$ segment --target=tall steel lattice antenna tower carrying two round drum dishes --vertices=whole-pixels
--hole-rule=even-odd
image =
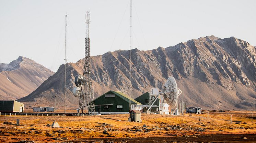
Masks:
[[[90,24],[90,12],[85,12],[86,23],[86,37],[85,37],[85,52],[84,52],[84,70],[83,70],[83,82],[81,85],[81,94],[79,99],[79,111],[80,113],[88,112],[89,114],[95,114],[94,106],[94,94],[91,79],[90,68],[90,38],[89,38],[89,24]]]

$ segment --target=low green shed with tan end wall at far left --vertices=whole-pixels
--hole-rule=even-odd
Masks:
[[[23,112],[24,104],[14,100],[1,100],[0,112]]]

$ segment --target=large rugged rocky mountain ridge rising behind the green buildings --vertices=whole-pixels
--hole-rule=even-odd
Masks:
[[[207,36],[166,48],[132,49],[131,81],[129,52],[118,50],[91,57],[95,98],[110,89],[132,93],[135,98],[152,87],[162,89],[167,78],[174,76],[180,89],[184,82],[187,106],[256,109],[256,48],[246,41]],[[68,107],[78,106],[72,88],[74,76],[82,72],[83,60],[67,64]],[[19,101],[54,105],[56,94],[57,106],[63,106],[63,91],[64,66],[61,65],[53,76]]]

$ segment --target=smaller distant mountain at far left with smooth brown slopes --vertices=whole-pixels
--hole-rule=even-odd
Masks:
[[[22,56],[9,64],[0,63],[0,100],[25,97],[53,74],[53,71]]]

